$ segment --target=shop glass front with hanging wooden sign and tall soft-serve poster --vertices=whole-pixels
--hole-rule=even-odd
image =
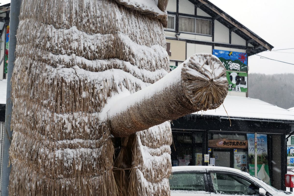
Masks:
[[[267,138],[266,134],[257,134],[257,175],[270,183]],[[210,157],[215,159],[215,166],[239,169],[254,176],[254,133],[209,133],[208,149],[211,149]]]

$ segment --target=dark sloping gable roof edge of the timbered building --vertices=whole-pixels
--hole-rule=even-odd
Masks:
[[[212,16],[214,19],[227,26],[231,32],[235,32],[237,35],[246,40],[246,43],[250,43],[253,47],[248,47],[247,55],[251,56],[266,50],[271,51],[273,48],[268,42],[263,40],[261,37],[253,33],[250,29],[239,23],[233,17],[222,11],[220,8],[212,4],[208,0],[189,0],[197,7],[205,11],[207,14]]]

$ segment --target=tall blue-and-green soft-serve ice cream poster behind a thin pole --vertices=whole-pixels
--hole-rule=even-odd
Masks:
[[[249,173],[250,175],[254,176],[255,175],[254,133],[248,133],[247,139],[248,139]],[[270,184],[270,173],[268,170],[268,143],[267,143],[266,134],[257,134],[256,152],[257,152],[257,177],[263,182]]]

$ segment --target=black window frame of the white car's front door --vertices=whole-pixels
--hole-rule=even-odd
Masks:
[[[228,175],[228,174],[229,175],[234,175],[234,176],[243,178],[244,180],[247,180],[248,182],[254,184],[258,188],[265,189],[264,187],[260,186],[255,181],[252,181],[250,178],[248,178],[248,177],[246,177],[244,175],[240,175],[239,173],[235,173],[235,172],[231,172],[231,171],[225,171],[225,170],[207,170],[208,183],[211,185],[211,186],[209,186],[209,191],[212,192],[212,193],[216,193],[216,190],[214,189],[214,186],[213,186],[213,182],[212,182],[211,174],[210,173],[219,173],[219,174],[224,174],[224,175]],[[266,189],[265,189],[265,191],[268,193],[268,191]],[[222,195],[222,194],[220,194],[220,195]]]

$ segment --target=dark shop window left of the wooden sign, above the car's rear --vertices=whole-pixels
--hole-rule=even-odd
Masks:
[[[172,165],[203,165],[203,148],[203,132],[192,133],[173,130]]]

